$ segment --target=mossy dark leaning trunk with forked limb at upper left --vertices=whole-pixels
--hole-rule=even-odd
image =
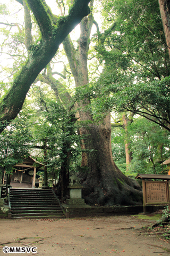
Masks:
[[[22,0],[16,1],[23,4]],[[29,57],[21,71],[15,75],[10,91],[0,102],[0,121],[9,123],[18,115],[27,92],[40,71],[54,57],[64,38],[69,35],[84,16],[89,14],[89,2],[90,0],[75,0],[69,14],[66,17],[57,18],[44,0],[27,0],[39,26],[41,42],[38,45],[32,44],[30,37],[28,37],[26,46]],[[30,35],[29,27],[25,27],[25,33]],[[4,127],[5,125],[3,129]]]

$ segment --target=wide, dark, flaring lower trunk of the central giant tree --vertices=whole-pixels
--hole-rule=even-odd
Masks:
[[[115,165],[111,148],[111,121],[108,115],[103,122],[81,129],[88,134],[86,149],[88,170],[81,174],[83,197],[88,204],[134,205],[140,204],[142,195],[137,182],[126,177]]]

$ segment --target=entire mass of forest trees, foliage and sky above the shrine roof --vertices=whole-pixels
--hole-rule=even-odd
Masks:
[[[167,173],[169,158],[159,2],[53,2],[0,4],[2,170],[32,155],[59,195],[76,172],[86,203],[139,204],[131,178]]]

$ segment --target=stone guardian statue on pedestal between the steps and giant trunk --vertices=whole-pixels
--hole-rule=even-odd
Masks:
[[[81,196],[83,186],[80,184],[80,179],[77,175],[72,174],[69,180],[70,199],[66,199],[66,204],[69,205],[84,205],[84,199]]]

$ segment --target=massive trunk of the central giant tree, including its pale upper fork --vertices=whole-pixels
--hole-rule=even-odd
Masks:
[[[91,1],[90,7],[92,9]],[[78,51],[74,49],[70,37],[63,41],[64,50],[74,76],[75,86],[88,84],[87,57],[90,43],[90,32],[94,22],[92,12],[80,23],[81,35]],[[86,109],[86,103],[79,103],[81,121],[92,121],[92,116]],[[112,158],[111,150],[111,118],[108,115],[100,124],[84,124],[80,134],[87,135],[82,141],[82,149],[91,150],[82,154],[82,166],[87,167],[86,173],[81,173],[83,185],[82,195],[85,202],[94,205],[134,205],[142,202],[141,188],[137,182],[125,177],[117,168]],[[92,151],[93,150],[93,151]]]

